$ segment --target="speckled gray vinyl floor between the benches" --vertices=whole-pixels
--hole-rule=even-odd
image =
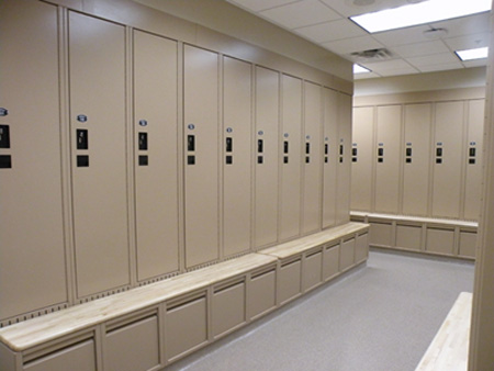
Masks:
[[[420,358],[473,263],[371,251],[361,266],[167,371],[407,371]]]

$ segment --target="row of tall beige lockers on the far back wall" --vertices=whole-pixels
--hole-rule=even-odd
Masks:
[[[484,100],[356,106],[351,209],[478,220]]]

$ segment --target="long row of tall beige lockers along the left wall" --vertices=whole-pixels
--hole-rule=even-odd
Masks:
[[[35,0],[0,43],[0,319],[349,220],[351,97]]]

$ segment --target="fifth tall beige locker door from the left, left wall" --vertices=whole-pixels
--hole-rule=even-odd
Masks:
[[[250,249],[251,65],[223,58],[224,256]]]

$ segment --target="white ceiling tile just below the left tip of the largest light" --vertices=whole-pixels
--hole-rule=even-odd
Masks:
[[[367,34],[366,31],[356,26],[348,20],[337,20],[310,25],[296,29],[295,32],[316,43],[326,43],[341,38],[363,36]]]

